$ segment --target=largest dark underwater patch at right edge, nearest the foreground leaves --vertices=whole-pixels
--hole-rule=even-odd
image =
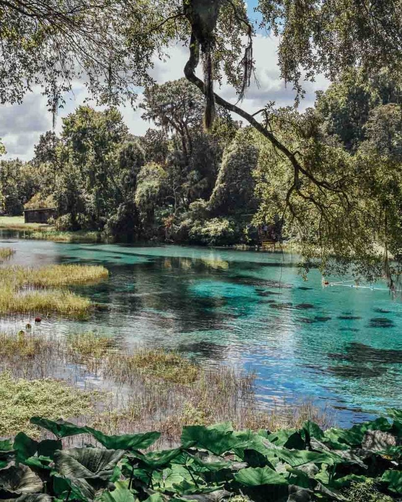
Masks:
[[[331,359],[359,363],[402,363],[402,350],[374,348],[364,343],[352,342],[346,347],[345,353],[329,353]]]

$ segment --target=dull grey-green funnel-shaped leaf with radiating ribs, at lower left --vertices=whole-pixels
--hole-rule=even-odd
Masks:
[[[55,470],[68,478],[109,480],[124,450],[70,448],[56,451]]]

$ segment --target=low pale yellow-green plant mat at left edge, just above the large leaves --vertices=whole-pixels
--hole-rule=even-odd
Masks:
[[[88,414],[96,393],[80,391],[54,379],[16,379],[11,371],[0,373],[0,436],[19,431],[37,435],[29,423],[39,413],[51,419],[72,418]]]

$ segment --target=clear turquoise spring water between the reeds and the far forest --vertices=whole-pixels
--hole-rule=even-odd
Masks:
[[[102,264],[110,271],[96,286],[75,288],[106,311],[85,322],[46,319],[39,331],[95,329],[128,346],[158,344],[211,364],[230,361],[256,372],[262,404],[329,403],[343,425],[402,408],[402,302],[384,284],[323,287],[317,270],[305,282],[297,257],[280,253],[16,238],[0,245],[16,249],[11,263]],[[28,320],[4,318],[0,329],[21,329]]]

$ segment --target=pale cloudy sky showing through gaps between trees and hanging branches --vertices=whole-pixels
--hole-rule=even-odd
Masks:
[[[183,76],[183,67],[187,59],[187,48],[174,46],[170,49],[170,59],[163,63],[155,61],[155,67],[151,74],[158,83],[174,80]],[[258,34],[254,40],[254,59],[257,62],[257,78],[259,88],[253,84],[243,100],[242,107],[249,112],[254,112],[263,107],[268,101],[275,101],[278,106],[293,104],[294,92],[291,85],[287,88],[279,79],[277,68],[277,39],[267,35]],[[300,105],[300,109],[312,106],[315,100],[315,92],[325,89],[328,82],[324,77],[318,77],[316,82],[306,83],[306,97]],[[216,88],[225,99],[236,102],[236,95],[229,86]],[[56,132],[60,131],[61,118],[71,113],[78,105],[87,98],[85,88],[77,85],[73,92],[65,96],[64,108],[59,111],[56,123]],[[139,94],[139,101],[141,93]],[[52,116],[47,111],[46,97],[40,90],[27,94],[23,104],[13,106],[0,106],[0,138],[6,146],[7,154],[4,158],[12,159],[19,157],[29,160],[33,157],[34,145],[39,136],[52,128]],[[121,107],[124,119],[135,135],[141,135],[150,127],[148,121],[141,118],[141,110],[131,107]]]

